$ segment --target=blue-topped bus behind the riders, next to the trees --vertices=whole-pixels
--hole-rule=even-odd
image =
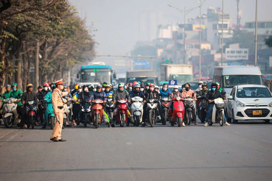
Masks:
[[[88,65],[81,66],[77,78],[80,78],[80,85],[88,86],[102,84],[103,82],[113,83],[116,74],[111,66],[104,62],[89,62]]]

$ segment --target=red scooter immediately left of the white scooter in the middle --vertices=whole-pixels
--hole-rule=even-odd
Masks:
[[[117,112],[116,112],[116,119],[117,122],[120,123],[120,127],[124,127],[124,124],[128,121],[128,108],[126,99],[118,99],[117,100]]]

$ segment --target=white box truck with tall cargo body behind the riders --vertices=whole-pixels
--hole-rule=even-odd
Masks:
[[[177,80],[184,84],[193,80],[193,66],[186,64],[161,64],[160,81]]]

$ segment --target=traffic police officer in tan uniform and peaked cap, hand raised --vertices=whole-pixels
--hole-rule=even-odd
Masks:
[[[63,126],[63,114],[64,114],[64,101],[62,100],[62,96],[66,96],[70,92],[70,88],[67,88],[67,92],[61,92],[61,90],[64,88],[62,79],[55,82],[55,90],[52,93],[52,106],[53,106],[53,113],[55,114],[55,120],[57,121],[59,118],[60,124]],[[52,136],[50,138],[51,141],[66,141],[64,139],[61,139],[61,127],[58,123],[55,123]]]

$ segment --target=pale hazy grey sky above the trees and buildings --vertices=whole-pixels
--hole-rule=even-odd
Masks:
[[[151,12],[156,15],[153,18],[156,22],[150,22],[152,25],[165,25],[183,22],[182,14],[167,4],[180,9],[184,9],[184,6],[186,9],[198,6],[196,0],[70,0],[70,2],[76,6],[80,17],[86,17],[88,28],[97,29],[93,33],[98,43],[96,52],[102,55],[123,55],[133,49],[140,36],[138,33],[141,28],[138,27],[139,14]],[[230,14],[233,24],[237,22],[236,4],[236,0],[224,1],[224,13]],[[256,0],[240,0],[240,9],[243,11],[242,25],[248,21],[255,21],[255,4]],[[222,0],[205,1],[202,13],[207,14],[209,6],[222,8]],[[271,0],[258,1],[258,21],[272,20],[271,7]],[[186,22],[188,18],[195,18],[197,15],[199,15],[199,8],[186,16]]]

